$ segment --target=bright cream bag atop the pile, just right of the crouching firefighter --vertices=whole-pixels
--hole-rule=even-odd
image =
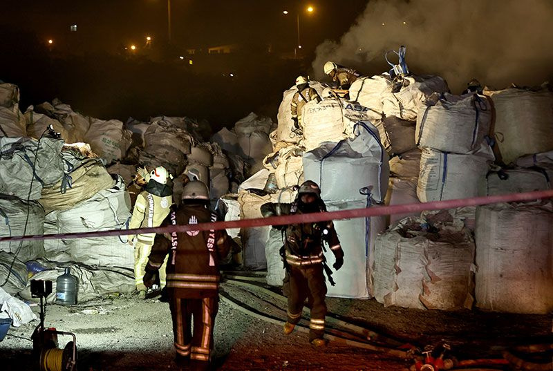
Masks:
[[[375,75],[356,79],[349,88],[350,99],[363,106],[382,112],[382,96],[392,90],[390,75]]]

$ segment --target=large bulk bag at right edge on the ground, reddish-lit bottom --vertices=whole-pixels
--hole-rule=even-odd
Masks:
[[[527,314],[553,310],[552,225],[551,202],[477,208],[477,307]]]

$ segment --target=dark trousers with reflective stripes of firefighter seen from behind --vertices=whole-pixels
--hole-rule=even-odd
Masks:
[[[171,298],[174,345],[178,356],[191,361],[210,361],[213,350],[213,326],[219,298]],[[194,321],[194,322],[193,322]]]

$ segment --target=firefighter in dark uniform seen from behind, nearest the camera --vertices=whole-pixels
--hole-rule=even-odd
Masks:
[[[207,209],[209,191],[194,180],[182,191],[182,204],[171,210],[163,225],[194,225],[217,220]],[[157,235],[146,266],[144,285],[151,287],[167,254],[167,296],[173,319],[176,362],[208,370],[213,349],[213,326],[218,311],[218,264],[229,254],[232,240],[220,231],[173,232],[169,240]],[[192,322],[194,321],[194,322]],[[191,327],[194,332],[191,332]]]

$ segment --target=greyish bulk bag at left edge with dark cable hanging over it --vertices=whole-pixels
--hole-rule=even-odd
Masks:
[[[0,193],[38,200],[43,187],[62,179],[62,140],[0,137]]]

